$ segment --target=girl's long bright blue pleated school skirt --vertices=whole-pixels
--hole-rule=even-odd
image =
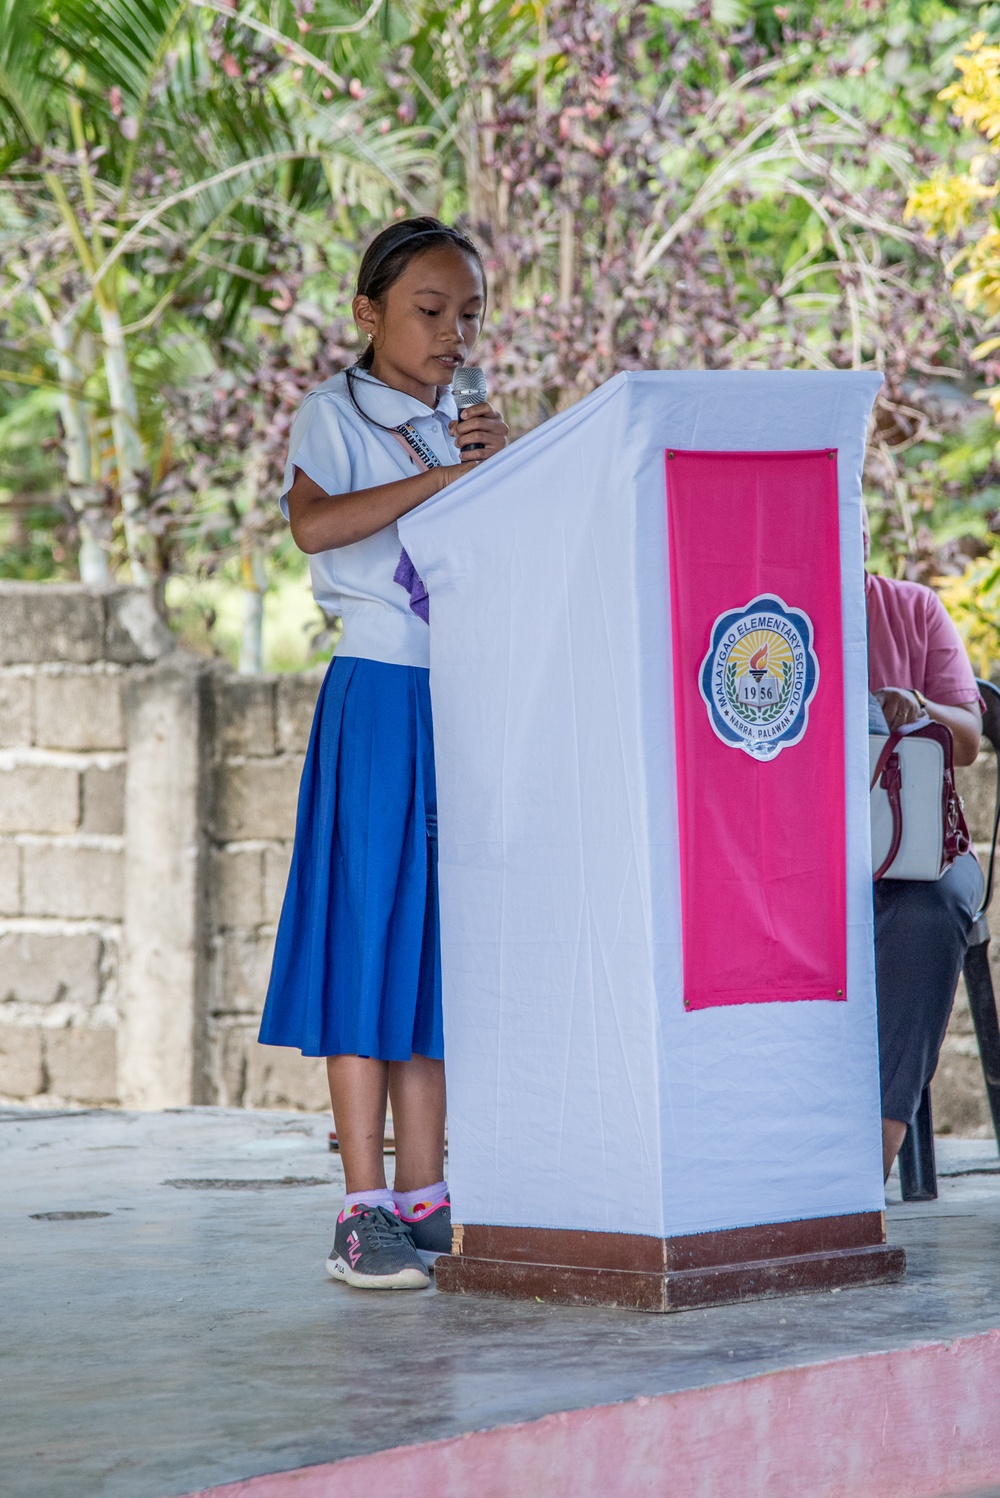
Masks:
[[[304,1056],[445,1055],[421,667],[338,656],[326,673],[259,1038]]]

